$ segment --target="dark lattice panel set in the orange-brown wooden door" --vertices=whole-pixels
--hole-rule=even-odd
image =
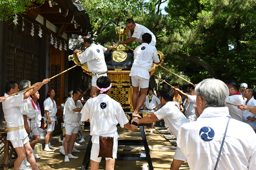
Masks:
[[[61,72],[61,66],[51,66],[51,77]],[[55,98],[60,98],[60,78],[61,76],[53,78],[51,80],[51,88],[55,91]]]

